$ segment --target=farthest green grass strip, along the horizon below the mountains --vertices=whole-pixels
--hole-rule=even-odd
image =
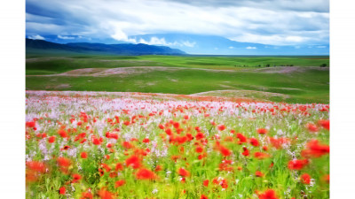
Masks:
[[[36,58],[33,60],[31,58]],[[26,73],[40,70],[63,73],[79,68],[113,68],[128,66],[177,66],[205,69],[241,70],[265,65],[319,66],[329,65],[329,57],[180,57],[180,56],[91,56],[36,57],[28,55]],[[43,74],[43,73],[36,73]]]

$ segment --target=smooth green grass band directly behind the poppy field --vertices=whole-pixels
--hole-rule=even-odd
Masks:
[[[211,90],[246,89],[288,95],[288,103],[328,103],[328,71],[304,73],[236,73],[182,69],[130,75],[28,76],[27,89],[88,90],[144,93],[195,94]],[[59,85],[69,85],[61,88]],[[289,89],[296,88],[296,89]],[[268,100],[268,99],[266,99]]]

